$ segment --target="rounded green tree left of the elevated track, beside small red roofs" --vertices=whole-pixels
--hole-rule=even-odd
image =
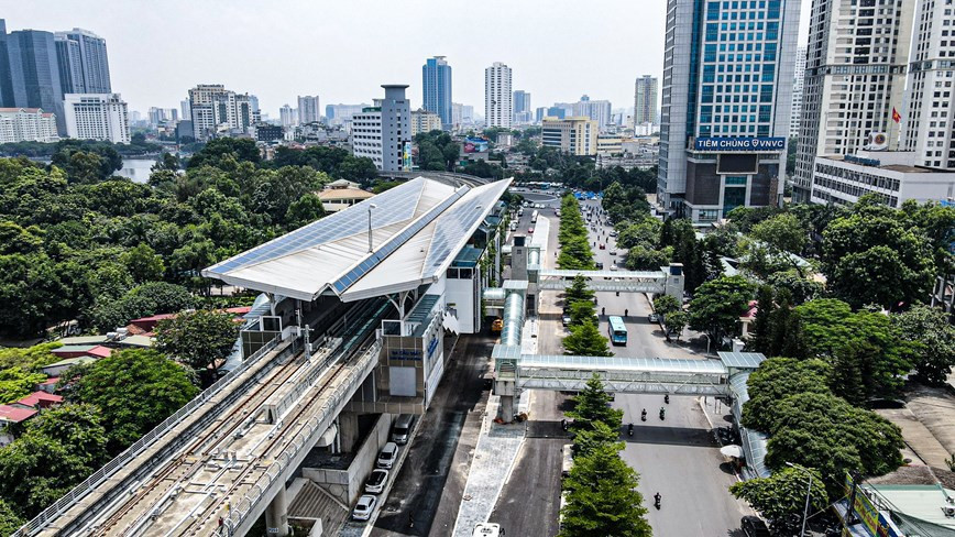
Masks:
[[[69,398],[100,408],[110,452],[117,453],[196,393],[189,371],[158,351],[124,350],[92,363]]]

